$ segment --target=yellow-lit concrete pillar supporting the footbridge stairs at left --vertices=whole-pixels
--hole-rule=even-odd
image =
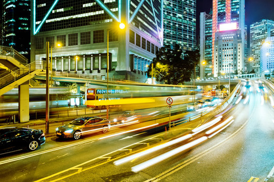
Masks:
[[[28,122],[29,121],[29,86],[28,81],[19,85],[18,89],[18,111],[19,111],[19,122]]]

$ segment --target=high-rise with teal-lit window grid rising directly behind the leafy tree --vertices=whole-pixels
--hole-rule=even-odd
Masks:
[[[196,0],[164,0],[164,44],[179,44],[183,50],[196,48]]]

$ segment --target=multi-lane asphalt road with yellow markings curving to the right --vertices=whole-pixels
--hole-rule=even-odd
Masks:
[[[244,104],[248,95],[250,99]],[[0,158],[1,181],[263,181],[274,165],[270,95],[273,93],[255,90],[243,94],[238,104],[222,113],[224,120],[233,116],[227,128],[198,146],[138,172],[131,168],[199,139],[205,131],[118,166],[114,161],[178,138],[180,133],[199,126],[200,121],[176,126],[172,135],[165,128],[120,133],[136,129],[130,125],[107,134],[85,136],[80,141],[52,137],[40,150]],[[103,138],[117,133],[120,134]]]

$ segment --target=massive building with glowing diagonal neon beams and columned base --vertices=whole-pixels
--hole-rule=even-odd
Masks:
[[[161,0],[32,1],[31,60],[46,57],[48,41],[53,70],[107,79],[109,42],[109,77],[144,80],[163,45],[162,7]]]

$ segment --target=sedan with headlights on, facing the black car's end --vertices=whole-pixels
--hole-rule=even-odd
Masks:
[[[56,135],[61,138],[80,139],[84,134],[90,134],[101,131],[108,132],[110,129],[110,121],[100,117],[81,117],[73,120],[68,124],[64,124],[56,128]]]

